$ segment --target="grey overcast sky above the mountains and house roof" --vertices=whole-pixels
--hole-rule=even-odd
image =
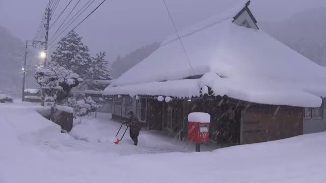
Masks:
[[[69,1],[60,1],[52,22]],[[77,1],[72,0],[62,18],[67,16]],[[87,1],[80,0],[75,10],[79,10]],[[101,1],[95,0],[80,18],[84,18]],[[221,2],[230,1],[237,0],[166,0],[178,29],[219,13]],[[47,0],[0,0],[0,25],[8,28],[22,40],[33,39],[47,2]],[[326,7],[326,0],[252,0],[250,6],[258,22],[284,20],[297,12],[317,7]],[[62,21],[63,19],[59,19],[51,28],[52,31],[55,31]],[[174,33],[161,0],[107,0],[76,31],[84,37],[84,42],[92,53],[106,51],[111,60],[119,54],[124,55],[140,46],[161,41]]]

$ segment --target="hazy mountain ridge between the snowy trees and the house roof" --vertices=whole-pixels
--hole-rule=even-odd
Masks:
[[[138,48],[124,57],[118,56],[115,62],[112,64],[111,76],[118,78],[123,73],[128,71],[133,66],[140,63],[143,59],[158,49],[160,43],[152,43],[150,45]]]

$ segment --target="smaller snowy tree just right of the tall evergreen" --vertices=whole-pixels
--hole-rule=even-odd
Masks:
[[[99,52],[96,57],[92,57],[92,64],[90,67],[91,79],[109,79],[110,66],[107,59],[105,59],[105,52]]]

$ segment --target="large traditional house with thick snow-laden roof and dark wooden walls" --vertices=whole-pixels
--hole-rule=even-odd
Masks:
[[[211,141],[228,145],[303,134],[304,108],[326,95],[326,70],[261,31],[249,5],[169,37],[105,88],[113,118],[133,110],[149,129],[184,139],[188,113],[207,112]]]

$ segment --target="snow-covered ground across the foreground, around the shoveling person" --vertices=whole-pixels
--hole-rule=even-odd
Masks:
[[[326,181],[326,133],[191,153],[193,145],[151,131],[141,132],[139,146],[128,134],[112,144],[120,124],[103,113],[60,133],[36,110],[0,104],[1,183]]]

